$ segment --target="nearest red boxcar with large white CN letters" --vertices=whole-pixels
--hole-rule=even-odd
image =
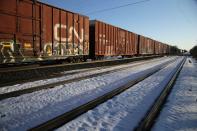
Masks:
[[[88,17],[32,0],[0,1],[0,63],[88,54]]]

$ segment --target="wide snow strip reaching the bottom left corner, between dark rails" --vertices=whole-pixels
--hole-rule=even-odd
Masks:
[[[180,59],[179,59],[180,60]],[[169,59],[0,101],[0,130],[26,130],[158,68]]]

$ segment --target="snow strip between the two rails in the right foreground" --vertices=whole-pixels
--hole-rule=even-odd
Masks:
[[[57,130],[134,130],[178,63],[180,59]]]

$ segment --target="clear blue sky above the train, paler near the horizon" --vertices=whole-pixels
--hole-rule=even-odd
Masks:
[[[91,12],[141,0],[40,1],[176,45],[181,49],[189,50],[197,44],[197,0],[150,0],[93,14]]]

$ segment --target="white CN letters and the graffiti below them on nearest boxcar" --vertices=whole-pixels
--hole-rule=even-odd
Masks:
[[[59,35],[60,31],[66,31],[67,26],[64,24],[55,24],[54,26],[54,43],[45,43],[44,45],[44,55],[78,55],[83,54],[84,50],[84,30],[80,30],[80,36],[74,27],[68,29],[68,37],[63,34]],[[74,34],[74,36],[73,36]],[[73,40],[76,37],[76,40]],[[61,40],[61,42],[60,42]],[[75,42],[73,42],[75,41]],[[86,43],[87,44],[87,43]]]

